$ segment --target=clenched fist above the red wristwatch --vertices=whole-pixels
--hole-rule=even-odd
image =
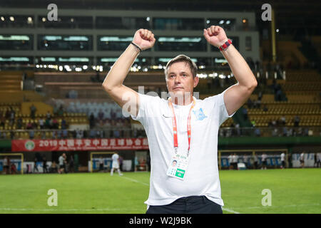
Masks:
[[[217,48],[228,41],[228,37],[226,36],[224,29],[220,26],[210,26],[210,28],[204,29],[204,36],[208,43]]]

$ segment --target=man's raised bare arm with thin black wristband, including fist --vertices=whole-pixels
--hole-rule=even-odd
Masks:
[[[136,31],[133,38],[133,43],[139,46],[141,50],[151,48],[155,41],[154,34],[146,29]],[[121,108],[123,108],[125,104],[127,107],[129,106],[128,112],[134,116],[138,115],[139,96],[135,90],[124,86],[123,81],[139,53],[139,49],[133,44],[130,44],[128,48],[126,48],[126,51],[124,51],[113,64],[111,71],[109,71],[105,81],[103,81],[103,88],[111,98],[113,98]]]

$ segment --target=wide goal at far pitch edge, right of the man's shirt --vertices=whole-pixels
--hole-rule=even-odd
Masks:
[[[220,170],[280,168],[282,153],[285,157],[284,165],[288,167],[287,149],[218,150],[218,167]]]

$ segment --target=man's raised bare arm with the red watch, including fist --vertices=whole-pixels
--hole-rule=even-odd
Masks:
[[[204,29],[204,36],[210,44],[217,48],[228,41],[225,31],[220,26],[210,26],[210,28]],[[224,103],[228,110],[228,115],[231,115],[248,100],[255,87],[258,86],[258,81],[256,81],[248,63],[246,63],[233,44],[230,44],[221,53],[228,61],[230,69],[238,81],[224,93]]]

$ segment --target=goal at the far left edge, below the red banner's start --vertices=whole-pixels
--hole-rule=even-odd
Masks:
[[[24,174],[24,154],[0,153],[0,174]]]

